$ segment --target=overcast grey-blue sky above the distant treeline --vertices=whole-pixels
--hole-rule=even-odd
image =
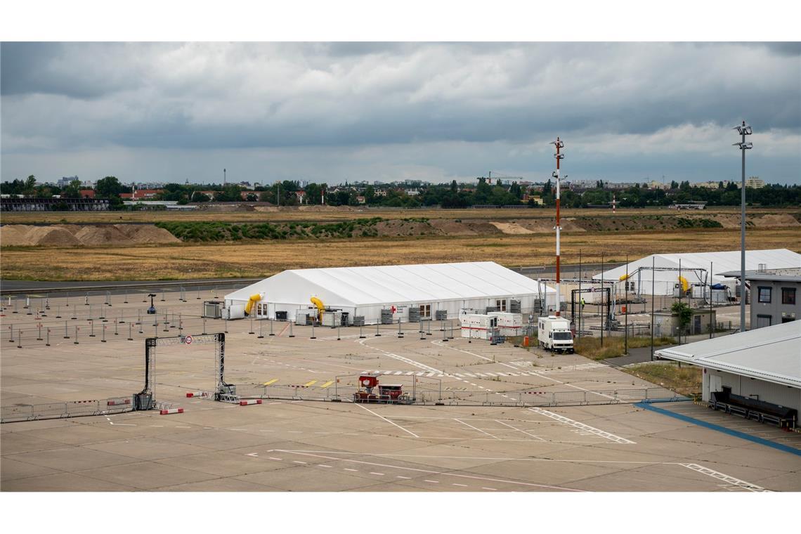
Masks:
[[[10,43],[2,180],[801,183],[799,43]]]

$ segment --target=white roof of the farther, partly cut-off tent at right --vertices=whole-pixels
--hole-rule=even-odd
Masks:
[[[698,272],[698,276],[692,275],[692,269],[709,270],[712,263],[713,275],[712,282],[721,281],[721,273],[727,271],[739,271],[740,251],[718,251],[718,252],[687,252],[682,254],[653,254],[646,258],[638,259],[629,263],[629,273],[637,270],[638,267],[651,267],[652,260],[655,259],[656,267],[673,267],[678,269],[678,260],[682,261],[682,270],[686,269],[686,278],[690,283],[705,282],[703,274]],[[801,267],[801,254],[789,251],[786,248],[772,250],[746,251],[746,269],[756,270],[759,264],[764,263],[768,269],[783,269]],[[626,274],[626,265],[615,267],[603,273],[604,279],[618,280]],[[650,280],[650,271],[644,270],[642,274]],[[595,275],[594,279],[601,279],[602,275]],[[670,278],[675,274],[671,273]],[[701,277],[701,279],[697,279]],[[660,276],[657,275],[657,279]]]

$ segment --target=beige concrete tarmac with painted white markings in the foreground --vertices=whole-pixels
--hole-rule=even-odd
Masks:
[[[199,303],[167,293],[159,313],[141,297],[51,299],[46,316],[3,310],[2,406],[131,395],[143,387],[144,339],[199,334]],[[60,319],[55,308],[60,307]],[[91,307],[91,311],[90,308]],[[100,310],[106,322],[100,318]],[[70,319],[76,316],[77,319]],[[164,324],[164,319],[167,324]],[[90,321],[91,319],[91,321]],[[153,323],[150,323],[150,321]],[[120,322],[124,321],[124,322]],[[70,339],[64,339],[66,333]],[[38,325],[50,328],[50,347]],[[130,325],[130,326],[129,326]],[[13,328],[9,328],[13,327]],[[78,344],[74,341],[78,328]],[[103,327],[105,339],[103,343]],[[417,325],[292,327],[207,320],[227,329],[226,380],[309,387],[356,385],[363,371],[450,391],[582,391],[652,387],[581,355],[466,339]],[[259,327],[263,337],[259,337]],[[94,328],[94,336],[91,337]],[[129,328],[133,340],[128,341]],[[166,331],[165,331],[166,330]],[[18,348],[22,331],[22,348]],[[115,331],[117,334],[115,335]],[[249,333],[253,331],[253,333]],[[445,331],[445,337],[449,331]],[[14,342],[10,342],[14,335]],[[360,337],[364,335],[364,337]],[[337,340],[339,336],[339,340]],[[422,337],[422,339],[421,339]],[[635,404],[548,408],[364,405],[264,400],[240,407],[187,399],[214,386],[214,345],[157,347],[156,399],[182,414],[129,412],[0,426],[2,491],[762,492],[801,490],[801,456]],[[336,380],[339,379],[339,382]],[[326,385],[328,384],[328,385]],[[801,434],[665,403],[699,420],[801,449]]]

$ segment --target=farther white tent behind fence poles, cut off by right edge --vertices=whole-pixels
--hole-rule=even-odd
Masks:
[[[681,264],[679,265],[679,260]],[[652,266],[658,270],[653,271]],[[642,267],[642,269],[640,269]],[[650,295],[653,278],[654,295],[673,295],[674,284],[678,283],[679,267],[681,275],[690,285],[706,285],[711,270],[711,283],[721,283],[735,288],[736,279],[719,275],[727,271],[739,271],[740,251],[688,252],[684,254],[652,254],[628,264],[629,291],[637,295]],[[801,254],[778,248],[763,251],[746,251],[746,270],[785,269],[801,267]],[[626,275],[626,265],[604,271],[593,279],[618,282]],[[621,284],[622,286],[622,284]],[[622,290],[620,290],[622,291]]]

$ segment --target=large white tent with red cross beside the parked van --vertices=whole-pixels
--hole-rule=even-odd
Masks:
[[[396,322],[408,320],[411,308],[424,311],[424,317],[433,318],[444,310],[456,318],[462,308],[509,310],[511,299],[521,302],[524,313],[542,299],[549,309],[557,306],[553,288],[494,262],[283,271],[225,295],[223,316],[244,317],[248,299],[256,294],[260,300],[251,315],[258,318],[276,319],[276,311],[285,311],[288,320],[295,320],[298,313],[310,311],[310,299],[316,297],[326,308],[364,316],[366,324],[380,322],[381,310],[387,309]]]

